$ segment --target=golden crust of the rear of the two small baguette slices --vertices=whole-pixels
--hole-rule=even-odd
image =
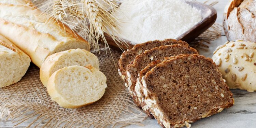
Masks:
[[[83,65],[80,65],[80,66],[85,66],[87,64],[90,64],[95,66],[96,69],[99,69],[98,58],[93,53],[90,53],[84,49],[70,49],[67,51],[62,51],[59,53],[52,54],[46,58],[46,60],[43,62],[40,68],[40,80],[45,87],[47,87],[48,79],[54,72],[53,71],[54,67],[57,66],[58,63],[60,63],[61,61],[60,58],[62,58],[63,56],[69,56],[69,57],[72,57],[72,59],[77,59],[78,62],[81,61],[82,58],[74,58],[73,56],[74,54],[83,54],[86,57],[88,57],[88,58],[84,58],[85,63],[83,63]],[[65,59],[67,59],[66,62],[70,61],[69,58],[65,58]],[[64,68],[64,67],[61,67],[61,68]]]

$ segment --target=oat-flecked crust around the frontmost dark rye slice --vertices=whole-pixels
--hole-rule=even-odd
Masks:
[[[216,108],[212,108],[212,110],[210,110],[207,113],[203,113],[201,114],[202,116],[199,117],[195,117],[193,120],[185,120],[185,121],[181,121],[179,123],[176,124],[170,124],[167,120],[167,116],[165,115],[164,111],[161,110],[161,108],[158,105],[158,101],[157,101],[157,97],[154,95],[153,92],[150,91],[150,87],[147,86],[147,83],[145,82],[147,77],[149,75],[151,75],[153,72],[155,72],[156,69],[158,69],[159,67],[165,67],[168,66],[170,64],[170,62],[174,62],[178,59],[182,59],[182,58],[187,58],[187,57],[192,57],[192,58],[198,58],[198,59],[205,59],[209,62],[212,63],[212,65],[214,65],[215,70],[217,72],[219,72],[217,66],[215,65],[215,63],[213,62],[212,59],[210,58],[205,58],[202,55],[179,55],[176,57],[170,57],[170,58],[166,58],[166,60],[162,61],[160,64],[158,64],[157,66],[155,66],[153,69],[151,69],[149,72],[146,73],[146,75],[142,78],[142,84],[143,84],[143,93],[145,95],[145,104],[147,105],[147,107],[150,109],[150,111],[152,112],[152,114],[154,115],[154,117],[156,118],[157,122],[159,125],[161,125],[162,127],[166,127],[166,128],[175,128],[175,127],[190,127],[191,125],[189,123],[193,123],[196,122],[197,120],[201,119],[201,118],[205,118],[205,117],[209,117],[213,114],[219,113],[221,111],[223,111],[226,108],[229,108],[231,106],[233,106],[234,104],[234,99],[233,99],[233,94],[231,93],[231,91],[229,90],[228,86],[225,84],[224,80],[222,79],[222,74],[219,73],[218,77],[220,78],[220,80],[222,80],[222,84],[226,85],[225,89],[228,91],[227,93],[229,94],[229,99],[228,99],[228,103],[221,105],[219,107]]]

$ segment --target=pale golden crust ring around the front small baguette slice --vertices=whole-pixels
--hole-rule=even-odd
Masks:
[[[87,106],[89,104],[92,104],[96,101],[98,101],[104,94],[95,94],[95,97],[98,97],[97,100],[94,100],[94,101],[90,101],[88,103],[84,103],[84,104],[73,104],[73,103],[70,103],[68,100],[66,100],[60,93],[59,93],[59,90],[56,89],[56,76],[67,70],[67,69],[71,69],[71,68],[74,68],[74,69],[80,69],[80,70],[89,70],[90,72],[92,72],[93,74],[97,75],[97,77],[101,79],[101,83],[102,85],[98,85],[98,86],[102,86],[104,88],[104,91],[105,91],[105,88],[106,88],[106,76],[100,72],[98,69],[94,68],[93,66],[91,65],[87,65],[85,67],[82,67],[82,66],[70,66],[70,67],[64,67],[62,69],[59,69],[57,70],[56,72],[54,72],[52,74],[52,76],[49,78],[49,81],[48,81],[48,86],[47,86],[47,92],[48,94],[51,96],[51,99],[53,101],[56,101],[60,106],[64,107],[64,108],[71,108],[71,109],[75,109],[75,108],[80,108],[82,106]],[[74,89],[75,90],[75,89]],[[71,93],[71,92],[68,92],[68,93]]]

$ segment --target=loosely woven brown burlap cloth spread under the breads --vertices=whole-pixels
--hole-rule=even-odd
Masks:
[[[37,1],[39,4],[44,0]],[[81,35],[84,35],[80,31]],[[216,25],[197,38],[209,42],[220,35]],[[208,37],[208,38],[205,38]],[[203,38],[203,39],[202,39]],[[203,46],[204,45],[199,45]],[[121,53],[101,46],[100,53],[92,51],[100,62],[100,71],[107,77],[104,96],[97,102],[79,108],[65,109],[51,100],[39,78],[39,68],[31,63],[27,73],[18,83],[0,88],[0,119],[12,120],[14,126],[28,122],[27,127],[123,127],[141,125],[147,117],[130,98],[115,63]],[[108,54],[106,54],[106,52]],[[108,55],[108,56],[107,56]],[[113,61],[114,60],[114,61]]]

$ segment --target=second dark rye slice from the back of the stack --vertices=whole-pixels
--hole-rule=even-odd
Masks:
[[[150,50],[146,50],[144,53],[136,56],[136,58],[127,66],[127,78],[128,90],[132,95],[134,102],[141,107],[140,99],[136,96],[135,85],[137,83],[138,74],[144,67],[155,60],[163,60],[164,57],[170,57],[180,54],[198,54],[196,49],[187,45],[173,44],[155,47]]]

